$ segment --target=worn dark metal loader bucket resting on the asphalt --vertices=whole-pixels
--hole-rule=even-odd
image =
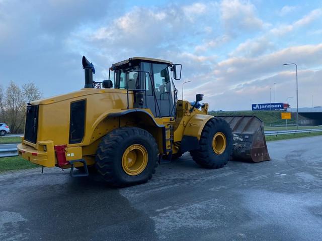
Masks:
[[[252,115],[218,116],[224,119],[233,134],[233,160],[248,162],[269,161],[264,124],[260,118]]]

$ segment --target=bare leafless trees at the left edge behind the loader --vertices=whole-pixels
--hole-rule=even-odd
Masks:
[[[24,133],[27,103],[42,98],[42,92],[30,82],[21,87],[13,81],[5,89],[0,85],[0,123],[11,133]]]

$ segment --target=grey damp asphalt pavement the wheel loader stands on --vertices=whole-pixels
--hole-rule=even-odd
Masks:
[[[320,240],[322,136],[269,142],[271,161],[203,169],[185,154],[146,184],[45,168],[0,174],[0,240]]]

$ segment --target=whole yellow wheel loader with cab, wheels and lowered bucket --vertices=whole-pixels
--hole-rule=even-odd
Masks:
[[[205,168],[230,158],[269,160],[262,122],[252,116],[208,115],[208,104],[177,99],[181,64],[133,57],[113,64],[109,79],[93,81],[83,56],[85,87],[27,104],[19,155],[43,167],[96,170],[114,186],[148,181],[161,158],[190,152]],[[74,171],[77,168],[81,171]]]

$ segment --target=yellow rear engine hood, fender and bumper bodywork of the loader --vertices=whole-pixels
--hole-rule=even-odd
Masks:
[[[83,99],[87,102],[84,139],[81,143],[69,144],[70,103]],[[133,110],[133,95],[129,93],[129,109],[127,109],[127,93],[124,89],[82,89],[33,101],[32,104],[39,104],[37,143],[22,139],[22,144],[18,146],[19,155],[46,167],[57,165],[54,151],[56,145],[66,145],[67,161],[84,158],[88,165],[94,164],[101,138],[113,129],[124,126],[136,126],[148,130],[156,139],[160,153],[163,153],[162,129],[156,128],[155,125],[164,126],[173,123],[171,121],[173,118],[170,117],[155,118],[149,109],[139,109],[145,112],[110,117],[111,114],[117,115],[129,109]],[[138,119],[141,122],[138,122]]]

